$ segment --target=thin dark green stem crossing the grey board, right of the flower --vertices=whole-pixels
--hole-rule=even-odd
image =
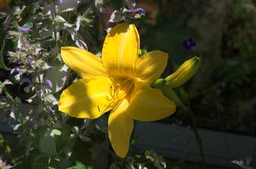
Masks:
[[[191,120],[192,120],[192,123],[193,123],[193,132],[195,134],[195,139],[197,139],[197,142],[198,142],[198,147],[200,149],[200,156],[201,156],[201,161],[202,161],[202,167],[204,168],[204,150],[202,148],[202,138],[200,137],[199,133],[198,133],[198,126],[196,124],[196,121],[195,121],[195,115],[191,109],[191,106],[190,104],[187,106],[188,109],[187,111],[189,112],[189,115],[191,117]]]

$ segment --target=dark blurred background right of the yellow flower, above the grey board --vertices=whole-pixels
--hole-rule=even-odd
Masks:
[[[164,77],[192,56],[203,59],[198,74],[177,89],[200,128],[255,135],[256,1],[138,1],[142,48],[169,53]],[[193,38],[196,47],[182,45]],[[191,124],[186,112],[162,120]]]

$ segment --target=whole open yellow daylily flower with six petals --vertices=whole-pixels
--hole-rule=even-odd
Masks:
[[[62,47],[63,61],[81,80],[61,94],[58,109],[67,115],[94,119],[110,111],[109,140],[124,158],[134,120],[154,121],[175,112],[175,104],[150,84],[167,65],[164,52],[148,52],[138,58],[140,37],[135,25],[121,23],[105,38],[102,58],[76,47]]]

